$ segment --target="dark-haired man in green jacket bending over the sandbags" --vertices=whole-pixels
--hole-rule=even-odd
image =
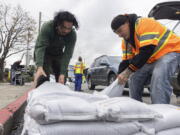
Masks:
[[[54,74],[56,82],[64,84],[67,67],[76,43],[79,28],[75,16],[67,11],[58,12],[54,19],[43,24],[35,45],[35,87]]]

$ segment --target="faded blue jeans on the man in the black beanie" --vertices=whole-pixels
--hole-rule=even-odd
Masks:
[[[172,94],[171,76],[180,63],[180,53],[168,53],[152,64],[145,64],[129,80],[130,96],[142,101],[144,85],[150,80],[153,104],[169,104]]]

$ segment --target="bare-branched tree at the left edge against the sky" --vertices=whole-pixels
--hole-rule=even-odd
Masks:
[[[27,50],[33,41],[35,20],[19,5],[16,7],[0,3],[0,81],[3,80],[5,60]]]

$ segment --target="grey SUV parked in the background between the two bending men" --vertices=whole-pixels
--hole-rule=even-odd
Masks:
[[[87,72],[88,88],[93,90],[97,85],[108,86],[117,76],[120,56],[102,55],[94,60]]]

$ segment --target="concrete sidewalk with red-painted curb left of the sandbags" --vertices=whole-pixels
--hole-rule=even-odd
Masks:
[[[0,135],[9,135],[12,127],[23,117],[28,91],[32,84],[14,86],[0,83]]]

